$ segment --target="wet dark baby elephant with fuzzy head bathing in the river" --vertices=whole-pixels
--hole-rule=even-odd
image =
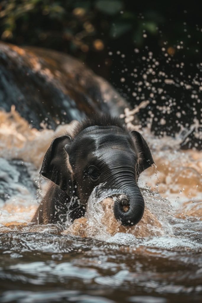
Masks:
[[[137,224],[144,214],[137,180],[153,163],[144,138],[120,119],[86,119],[74,135],[55,138],[48,148],[40,173],[53,183],[32,221],[48,224],[82,217],[93,189],[101,185],[106,196],[111,189],[120,192],[114,197],[115,218],[125,226]]]

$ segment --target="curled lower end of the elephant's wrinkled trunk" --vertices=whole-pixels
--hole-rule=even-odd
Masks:
[[[134,179],[124,182],[124,184],[121,185],[121,190],[123,190],[124,194],[127,196],[129,208],[125,212],[121,202],[116,199],[114,202],[114,216],[117,220],[121,221],[122,225],[133,226],[143,217],[144,199]]]

